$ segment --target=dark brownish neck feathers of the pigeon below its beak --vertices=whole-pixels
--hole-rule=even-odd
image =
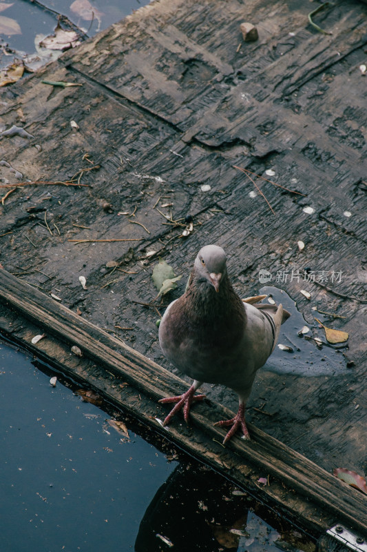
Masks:
[[[185,293],[187,312],[193,322],[199,324],[226,324],[226,319],[238,318],[244,324],[245,311],[240,297],[235,293],[229,277],[225,274],[220,282],[218,292],[192,271],[189,286]]]

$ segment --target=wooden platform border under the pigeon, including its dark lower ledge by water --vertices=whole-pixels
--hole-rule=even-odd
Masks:
[[[180,378],[6,270],[0,270],[0,302],[0,327],[7,335],[20,340],[37,357],[44,358],[46,354],[48,362],[59,363],[64,372],[81,377],[108,400],[129,408],[134,415],[163,431],[156,417],[163,417],[165,408],[156,401],[162,393],[171,395],[185,390],[187,385]],[[37,330],[30,327],[29,321],[32,326],[36,324]],[[34,331],[47,333],[36,346],[31,343]],[[50,336],[56,337],[56,341]],[[63,347],[60,341],[67,346]],[[70,355],[73,345],[81,348],[86,360]],[[168,435],[214,468],[226,469],[227,475],[236,481],[250,483],[251,488],[259,489],[256,477],[266,473],[271,484],[262,488],[262,494],[268,495],[268,500],[275,498],[308,529],[327,529],[333,522],[343,520],[359,531],[367,531],[366,495],[255,426],[249,426],[251,442],[235,438],[230,446],[222,448],[220,442],[225,431],[213,426],[213,421],[229,415],[232,417],[233,413],[219,404],[198,405],[191,413],[195,431],[182,431],[182,424],[178,428],[172,424]]]

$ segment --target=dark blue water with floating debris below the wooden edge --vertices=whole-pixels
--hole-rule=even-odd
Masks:
[[[1,551],[315,550],[247,491],[1,342],[0,382]]]

